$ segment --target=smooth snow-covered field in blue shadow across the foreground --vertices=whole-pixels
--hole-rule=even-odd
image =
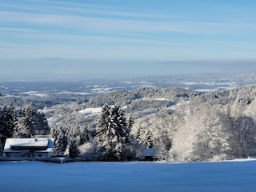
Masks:
[[[256,191],[256,161],[0,162],[0,191]]]

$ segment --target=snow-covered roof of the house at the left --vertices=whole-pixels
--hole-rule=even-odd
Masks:
[[[7,138],[4,152],[20,152],[21,150],[36,150],[52,152],[54,138]]]

